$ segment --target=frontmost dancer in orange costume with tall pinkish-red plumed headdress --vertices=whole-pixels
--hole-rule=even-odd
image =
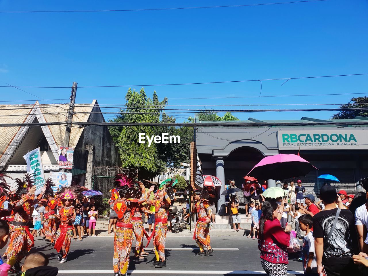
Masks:
[[[114,231],[114,276],[126,276],[129,266],[129,254],[133,241],[132,208],[135,190],[133,177],[120,174],[120,187],[117,187],[119,198],[115,200],[113,210],[117,214]],[[116,181],[116,180],[115,180]]]

